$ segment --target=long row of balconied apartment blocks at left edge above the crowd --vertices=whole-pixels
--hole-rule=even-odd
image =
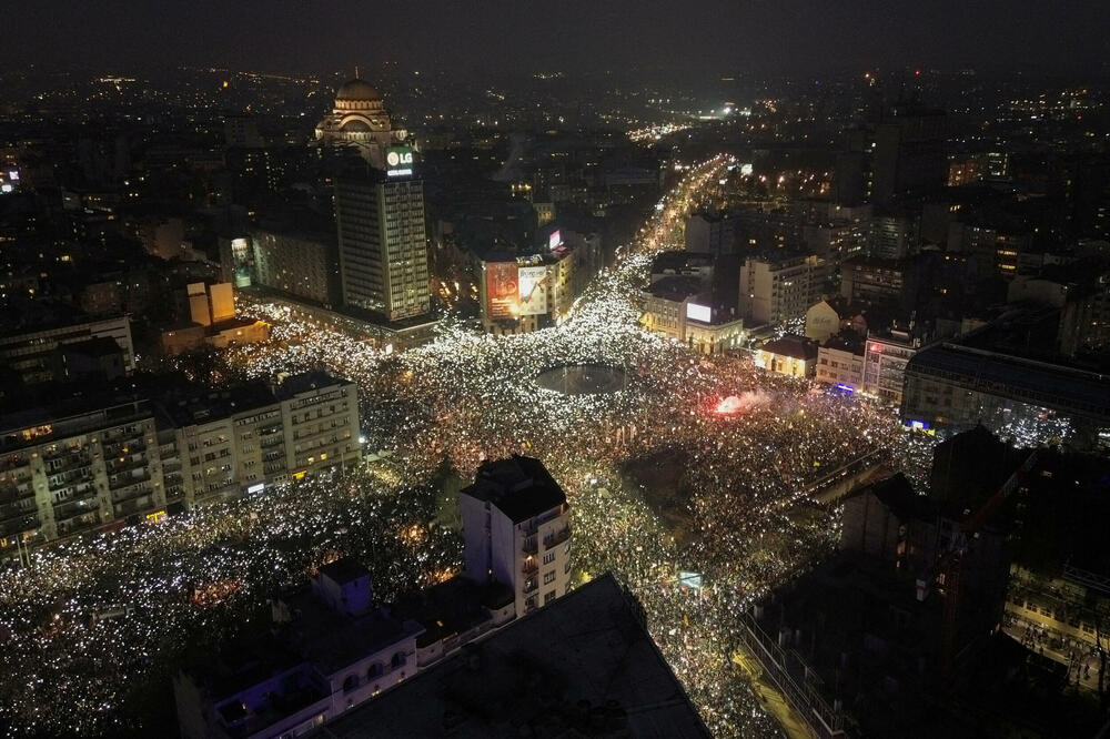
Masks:
[[[289,377],[275,388],[252,383],[131,393],[7,417],[0,428],[0,559],[261,492],[361,456],[357,388],[322,372]]]

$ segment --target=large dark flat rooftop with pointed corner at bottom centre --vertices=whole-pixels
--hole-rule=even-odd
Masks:
[[[603,575],[312,736],[708,737],[637,614]]]

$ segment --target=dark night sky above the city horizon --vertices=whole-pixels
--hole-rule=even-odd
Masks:
[[[922,65],[1096,71],[1106,0],[31,0],[7,2],[0,61],[142,71],[201,64],[810,73]]]

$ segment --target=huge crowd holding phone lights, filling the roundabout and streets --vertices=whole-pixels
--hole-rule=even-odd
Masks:
[[[692,168],[556,327],[496,338],[450,328],[387,355],[287,308],[250,305],[272,323],[271,340],[222,352],[208,371],[350,377],[367,448],[390,462],[65,544],[0,574],[0,721],[10,733],[150,727],[143,701],[161,703],[149,686],[169,686],[190,649],[340,554],[365,561],[386,598],[450,576],[460,543],[431,523],[438,476],[467,479],[483,459],[515,453],[542,459],[566,488],[579,581],[610,570],[637,596],[710,730],[776,733],[733,666],[736,614],[833,545],[835,512],[810,497],[824,480],[859,459],[924,469],[930,447],[888,411],[638,326],[653,255],[674,247],[702,188],[733,164]],[[625,384],[566,395],[536,382],[577,364],[619,367]],[[745,399],[723,405],[730,396]],[[659,455],[682,460],[683,496],[667,512],[629,474]]]

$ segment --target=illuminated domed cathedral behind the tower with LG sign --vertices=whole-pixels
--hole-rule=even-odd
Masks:
[[[335,91],[335,107],[316,125],[316,142],[324,146],[351,146],[375,169],[385,169],[389,146],[405,143],[408,132],[394,129],[382,95],[369,82],[355,79]]]

